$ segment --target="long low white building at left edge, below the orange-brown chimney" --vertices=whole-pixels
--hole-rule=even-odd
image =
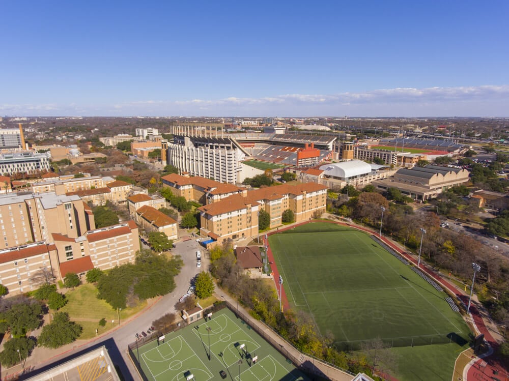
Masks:
[[[34,152],[20,152],[0,154],[0,173],[12,175],[14,173],[38,173],[49,171],[49,157],[47,154]]]

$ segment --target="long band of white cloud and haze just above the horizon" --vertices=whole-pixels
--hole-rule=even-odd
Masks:
[[[136,100],[114,104],[0,104],[16,115],[359,115],[506,116],[509,85],[396,87],[358,93],[282,94],[260,98]]]

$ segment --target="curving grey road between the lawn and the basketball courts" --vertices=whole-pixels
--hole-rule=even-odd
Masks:
[[[184,266],[182,267],[180,274],[175,277],[177,287],[171,294],[161,297],[160,300],[149,309],[145,310],[136,318],[132,318],[127,323],[123,323],[121,327],[115,331],[110,331],[98,339],[89,341],[79,347],[68,348],[68,350],[63,354],[54,356],[50,353],[49,356],[53,356],[50,360],[44,361],[44,359],[48,358],[49,352],[47,349],[36,347],[34,354],[29,360],[27,360],[25,367],[32,366],[33,370],[44,369],[48,366],[47,364],[54,364],[55,362],[58,363],[62,359],[69,356],[75,356],[83,350],[105,345],[112,361],[119,366],[126,381],[137,380],[137,372],[127,355],[127,345],[135,341],[136,333],[147,331],[147,329],[152,325],[152,321],[166,313],[176,312],[174,307],[175,303],[178,302],[181,296],[186,294],[190,280],[196,274],[199,274],[201,270],[209,268],[209,258],[207,255],[203,255],[205,251],[204,248],[201,247],[195,240],[176,242],[175,246],[176,247],[172,250],[172,253],[182,256]],[[201,249],[202,251],[201,269],[196,268],[197,249]],[[43,362],[31,364],[32,362],[37,361],[38,358],[40,358],[39,361]],[[5,374],[2,374],[2,376],[5,376]]]

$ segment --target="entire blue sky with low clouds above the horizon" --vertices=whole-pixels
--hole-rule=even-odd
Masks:
[[[509,2],[2,2],[0,115],[509,116]]]

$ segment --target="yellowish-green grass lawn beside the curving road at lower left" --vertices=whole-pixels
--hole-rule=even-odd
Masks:
[[[67,312],[71,320],[76,321],[83,326],[83,333],[80,339],[92,338],[95,336],[96,328],[99,334],[118,325],[118,312],[102,299],[97,299],[99,291],[92,284],[81,284],[80,286],[66,293],[67,304],[61,309]],[[126,308],[120,312],[120,320],[141,311],[147,306],[143,301],[134,308]],[[99,320],[105,318],[107,323],[105,327],[99,326]],[[115,320],[115,323],[111,323]]]

